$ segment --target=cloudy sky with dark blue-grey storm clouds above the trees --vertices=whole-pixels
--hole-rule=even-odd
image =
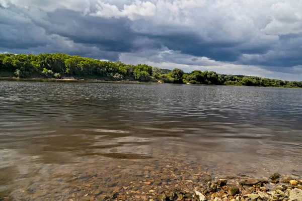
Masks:
[[[300,0],[0,0],[0,52],[302,80]]]

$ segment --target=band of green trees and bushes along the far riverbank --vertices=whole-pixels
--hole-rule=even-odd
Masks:
[[[62,53],[39,55],[0,54],[0,77],[77,79],[100,81],[139,81],[163,83],[215,84],[301,88],[302,81],[285,81],[244,75],[225,75],[214,71],[160,69],[146,64],[128,65],[120,61],[70,56]],[[37,79],[37,80],[39,80]]]

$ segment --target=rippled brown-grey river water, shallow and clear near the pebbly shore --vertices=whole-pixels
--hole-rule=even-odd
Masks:
[[[302,90],[1,81],[0,157],[0,200],[98,198],[182,171],[302,176]]]

